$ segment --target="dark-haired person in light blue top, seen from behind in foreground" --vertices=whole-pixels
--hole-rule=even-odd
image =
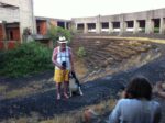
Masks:
[[[161,105],[152,100],[152,86],[144,77],[136,77],[124,90],[109,116],[109,123],[158,123]]]

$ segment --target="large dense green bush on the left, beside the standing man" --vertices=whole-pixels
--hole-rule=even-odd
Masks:
[[[41,43],[23,43],[0,52],[0,76],[21,77],[53,68],[52,51]]]

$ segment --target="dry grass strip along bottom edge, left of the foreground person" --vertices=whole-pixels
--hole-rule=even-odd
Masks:
[[[61,115],[54,115],[54,118],[50,118],[46,120],[42,120],[38,113],[32,112],[31,116],[23,116],[19,119],[9,119],[3,121],[2,123],[82,123],[84,122],[84,112],[87,109],[92,109],[98,116],[103,115],[107,112],[110,112],[112,108],[116,105],[117,100],[110,99],[108,101],[102,101],[98,104],[88,105],[80,110],[72,111]]]

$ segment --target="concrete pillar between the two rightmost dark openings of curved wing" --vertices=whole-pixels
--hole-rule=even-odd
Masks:
[[[152,19],[145,20],[145,33],[154,33],[154,21]]]

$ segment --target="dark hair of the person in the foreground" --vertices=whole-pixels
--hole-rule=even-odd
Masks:
[[[144,77],[135,77],[125,88],[125,98],[146,99],[152,98],[152,86]]]

